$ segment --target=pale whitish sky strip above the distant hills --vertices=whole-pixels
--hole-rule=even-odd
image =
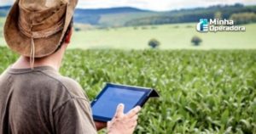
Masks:
[[[0,0],[0,6],[10,5],[14,0]],[[180,8],[208,7],[216,4],[256,4],[256,0],[79,0],[78,8],[134,7],[155,11]]]

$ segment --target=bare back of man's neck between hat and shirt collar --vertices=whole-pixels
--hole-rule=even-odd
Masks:
[[[63,48],[58,50],[57,52],[49,55],[48,57],[44,57],[41,59],[35,59],[34,67],[38,66],[50,66],[54,68],[55,70],[59,71],[61,67],[61,59],[64,55]],[[24,56],[20,56],[20,58],[15,62],[15,64],[12,65],[11,68],[14,69],[26,69],[31,68],[30,59]]]

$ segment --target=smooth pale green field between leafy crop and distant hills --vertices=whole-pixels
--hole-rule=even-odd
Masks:
[[[3,19],[0,19],[3,24]],[[138,27],[122,27],[76,31],[73,34],[70,48],[115,48],[145,49],[148,41],[157,39],[160,49],[255,49],[256,24],[246,25],[245,32],[199,33],[196,24],[146,25]],[[83,27],[79,25],[79,27]],[[86,27],[86,26],[85,26]],[[1,28],[2,29],[2,28]],[[0,31],[2,31],[0,29]],[[192,36],[202,39],[201,46],[195,47],[190,42]],[[0,35],[0,44],[5,44]]]

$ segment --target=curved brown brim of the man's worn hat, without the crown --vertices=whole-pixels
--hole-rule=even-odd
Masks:
[[[19,20],[19,1],[15,4],[9,11],[8,17],[4,25],[4,37],[8,46],[19,53],[20,55],[30,57],[31,55],[31,38],[25,36],[20,32],[19,26],[17,24]],[[67,6],[68,7],[68,6]],[[70,16],[70,12],[67,8],[64,29],[55,33],[55,35],[48,36],[45,38],[33,39],[35,45],[35,58],[42,58],[48,56],[55,52],[57,47],[59,47],[62,37],[67,31],[67,27],[73,14]],[[69,14],[67,14],[69,13]]]

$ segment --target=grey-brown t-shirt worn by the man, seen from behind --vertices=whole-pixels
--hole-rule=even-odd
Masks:
[[[51,67],[8,69],[0,92],[0,134],[96,133],[83,89]]]

